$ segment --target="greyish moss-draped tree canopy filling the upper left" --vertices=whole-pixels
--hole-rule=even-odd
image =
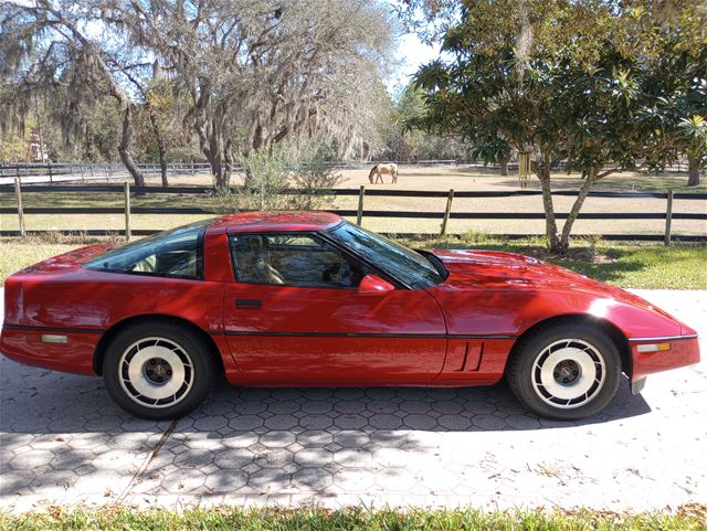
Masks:
[[[167,79],[175,98],[187,96],[184,121],[223,187],[236,152],[302,136],[328,138],[341,156],[367,149],[393,28],[373,0],[4,2],[0,76],[63,94],[67,130],[97,94],[113,96],[118,150],[138,183],[135,106],[152,105],[154,84]],[[158,120],[152,130],[160,136]]]

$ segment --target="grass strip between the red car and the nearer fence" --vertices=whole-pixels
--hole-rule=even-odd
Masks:
[[[52,242],[30,238],[0,240],[0,284],[22,267],[65,253],[96,240],[57,237]],[[507,241],[483,234],[463,237],[403,241],[412,247],[483,248],[536,256],[621,287],[707,289],[707,246],[673,245],[671,247],[602,241],[576,241],[567,256],[548,254],[541,238]]]

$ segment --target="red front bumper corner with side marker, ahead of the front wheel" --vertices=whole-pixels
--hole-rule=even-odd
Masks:
[[[645,351],[651,346],[668,343],[667,350]],[[668,371],[699,363],[699,340],[697,336],[663,338],[634,338],[629,340],[633,371],[631,382],[637,383],[648,374]],[[641,347],[641,348],[640,348]]]

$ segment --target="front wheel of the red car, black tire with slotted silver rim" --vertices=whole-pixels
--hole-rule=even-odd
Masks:
[[[577,421],[597,415],[613,400],[621,381],[621,355],[603,329],[568,318],[520,338],[506,378],[530,411],[556,421]]]

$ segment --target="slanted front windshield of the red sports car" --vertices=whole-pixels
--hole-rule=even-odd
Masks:
[[[410,287],[425,288],[440,284],[444,276],[441,262],[403,245],[345,222],[329,232],[337,242]]]

